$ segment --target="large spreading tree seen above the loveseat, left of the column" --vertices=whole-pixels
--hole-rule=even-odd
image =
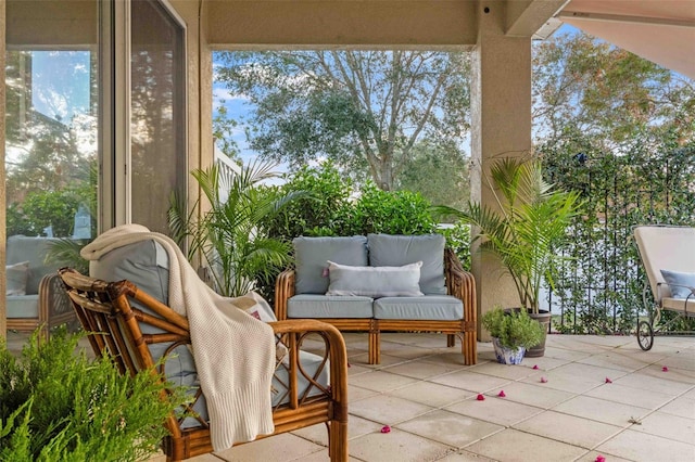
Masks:
[[[248,98],[250,146],[292,167],[328,158],[384,190],[424,138],[469,129],[468,55],[422,51],[222,52],[217,79]]]

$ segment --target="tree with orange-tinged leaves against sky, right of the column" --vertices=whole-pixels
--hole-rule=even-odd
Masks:
[[[535,134],[584,133],[616,147],[646,131],[695,131],[695,86],[592,36],[559,34],[533,48]]]

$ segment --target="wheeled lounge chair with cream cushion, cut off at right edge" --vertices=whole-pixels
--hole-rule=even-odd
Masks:
[[[683,317],[695,316],[695,228],[639,226],[634,238],[649,282],[644,292],[648,321],[637,320],[637,343],[646,351],[654,345],[655,334],[667,331]],[[679,316],[662,323],[661,310]]]

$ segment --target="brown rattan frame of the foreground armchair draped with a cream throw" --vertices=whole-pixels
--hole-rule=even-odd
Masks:
[[[154,367],[156,360],[151,347],[159,345],[168,354],[190,344],[189,324],[186,318],[160,303],[128,281],[105,282],[63,268],[59,274],[88,338],[97,355],[109,355],[123,373],[131,374]],[[142,307],[142,309],[138,308]],[[143,333],[154,328],[157,333]],[[274,405],[275,434],[292,432],[305,426],[325,423],[329,436],[331,461],[348,460],[348,373],[345,345],[333,326],[313,320],[279,321],[270,323],[278,342],[288,348],[288,356],[276,370],[285,378],[282,399]],[[311,335],[309,343],[323,350],[316,371],[308,372],[301,362],[302,343]],[[323,342],[314,342],[320,338]],[[166,362],[160,367],[166,376]],[[318,376],[329,371],[330,385],[321,385]],[[274,384],[276,382],[274,381]],[[304,384],[301,385],[300,383]],[[270,390],[268,392],[270,393]],[[194,410],[201,401],[200,388],[194,393]],[[193,420],[193,424],[190,421]],[[212,452],[210,427],[205,419],[177,419],[174,414],[165,422],[170,435],[162,448],[168,461],[178,461]],[[275,435],[274,434],[274,435]],[[270,435],[268,435],[270,436]],[[264,436],[266,437],[266,436]]]

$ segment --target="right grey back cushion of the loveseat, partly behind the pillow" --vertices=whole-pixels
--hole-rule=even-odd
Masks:
[[[446,295],[444,244],[444,236],[441,234],[368,234],[369,265],[401,267],[422,261],[420,291],[425,295]]]

